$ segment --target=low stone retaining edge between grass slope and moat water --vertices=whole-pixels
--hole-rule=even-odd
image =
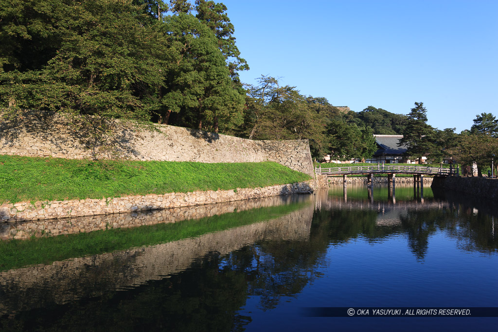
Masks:
[[[313,192],[314,180],[262,188],[208,190],[46,202],[19,202],[0,205],[0,222],[32,221],[83,216],[97,216],[135,211],[159,210],[249,200],[253,198]]]

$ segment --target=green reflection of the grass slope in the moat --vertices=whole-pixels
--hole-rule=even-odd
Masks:
[[[292,203],[175,223],[0,241],[0,271],[196,237],[278,218],[306,204],[309,203]]]

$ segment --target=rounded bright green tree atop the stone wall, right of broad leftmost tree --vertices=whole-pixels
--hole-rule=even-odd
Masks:
[[[176,112],[176,124],[214,132],[240,125],[244,90],[233,86],[214,33],[185,13],[168,16],[161,29],[172,51],[162,116]]]

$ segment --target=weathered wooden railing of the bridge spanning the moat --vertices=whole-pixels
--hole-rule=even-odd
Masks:
[[[366,173],[399,173],[399,174],[428,174],[428,175],[458,175],[459,168],[443,168],[430,166],[405,166],[377,164],[372,166],[339,166],[315,167],[315,174],[342,175]]]

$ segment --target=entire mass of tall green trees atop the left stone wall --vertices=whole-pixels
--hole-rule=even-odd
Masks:
[[[9,2],[0,4],[2,118],[32,109],[167,123],[178,112],[175,124],[215,132],[241,124],[244,91],[232,79],[247,64],[226,62],[245,63],[223,4],[200,1],[200,21],[185,0],[170,1],[174,15],[161,0]]]

